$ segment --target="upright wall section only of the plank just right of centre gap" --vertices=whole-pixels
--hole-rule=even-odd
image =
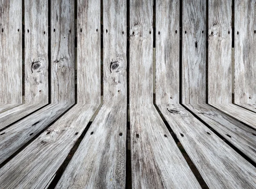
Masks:
[[[130,104],[150,104],[153,102],[153,0],[130,1],[130,49],[136,49],[129,55]]]

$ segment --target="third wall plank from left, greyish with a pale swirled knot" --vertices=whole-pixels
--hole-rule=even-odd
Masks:
[[[74,1],[51,1],[51,102],[75,102]]]

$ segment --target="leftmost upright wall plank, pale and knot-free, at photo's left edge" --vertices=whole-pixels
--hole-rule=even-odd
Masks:
[[[0,3],[0,104],[22,103],[22,1]]]

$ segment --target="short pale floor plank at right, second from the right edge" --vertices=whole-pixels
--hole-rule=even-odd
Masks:
[[[227,115],[256,128],[256,113],[233,104],[211,104]]]

